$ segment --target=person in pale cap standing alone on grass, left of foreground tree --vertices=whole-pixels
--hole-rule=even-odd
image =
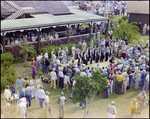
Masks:
[[[61,92],[61,97],[58,99],[58,104],[59,104],[59,118],[64,117],[64,103],[67,101],[66,97],[64,96],[64,93]]]

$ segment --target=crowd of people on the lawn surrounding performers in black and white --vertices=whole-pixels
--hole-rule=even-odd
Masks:
[[[92,80],[92,71],[99,70],[108,81],[108,85],[103,90],[104,97],[108,98],[108,93],[116,92],[116,94],[126,94],[126,90],[130,90],[134,88],[135,90],[140,89],[140,94],[136,99],[131,102],[130,112],[131,117],[135,116],[135,113],[142,112],[143,105],[146,104],[147,96],[149,88],[149,39],[146,42],[146,45],[143,46],[139,42],[137,45],[131,45],[128,43],[127,38],[125,40],[114,38],[112,40],[103,38],[98,41],[98,44],[94,45],[93,40],[91,40],[90,46],[88,47],[86,42],[82,40],[79,41],[78,47],[75,45],[72,46],[72,57],[69,60],[69,52],[66,48],[59,48],[58,56],[56,56],[56,51],[54,49],[51,51],[51,58],[48,56],[48,51],[43,55],[37,55],[36,60],[33,58],[32,61],[32,78],[35,80],[36,71],[42,70],[43,73],[47,73],[50,75],[50,78],[46,78],[42,76],[40,73],[40,78],[42,81],[46,83],[50,83],[50,88],[56,89],[58,86],[60,89],[68,90],[68,86],[72,87],[72,91],[74,90],[75,85],[75,75],[80,76],[88,76]],[[116,61],[115,57],[121,58],[121,61]],[[77,60],[77,64],[75,62]],[[100,67],[101,63],[104,61],[109,61],[110,64],[107,67]],[[89,67],[88,64],[97,63],[96,67]],[[47,79],[47,80],[45,80]],[[49,80],[49,81],[48,81]],[[31,106],[31,88],[28,84],[27,78],[25,80],[19,78],[16,83],[18,83],[17,90],[19,92],[20,99],[26,99],[26,107]],[[133,83],[135,83],[133,87]],[[25,84],[25,85],[23,85]],[[23,87],[25,90],[23,90]],[[13,95],[15,91],[14,82],[11,85],[12,94],[9,92],[6,87],[4,91],[4,96],[7,102],[10,101],[11,95]],[[46,93],[49,94],[48,91]],[[45,91],[43,90],[43,86],[40,86],[40,89],[36,93],[36,97],[39,99],[40,108],[45,106],[48,107],[49,112],[51,113],[51,108],[49,105],[49,97],[46,96]],[[99,92],[97,92],[97,95]],[[64,102],[67,101],[66,98],[61,93],[61,98],[59,98],[58,103],[60,104],[60,117],[64,116]],[[111,94],[110,94],[111,95]],[[72,99],[72,93],[70,95],[70,99]],[[20,100],[19,99],[19,100]],[[26,108],[23,105],[23,100],[18,101],[21,111],[20,112],[24,117],[27,115]],[[22,102],[22,103],[21,103]],[[138,103],[137,103],[138,102]],[[86,101],[83,102],[86,105]],[[83,104],[79,104],[82,106]],[[113,106],[108,106],[108,116],[115,117],[116,111],[112,112],[112,108],[114,109],[114,102],[112,102]],[[137,110],[138,108],[138,110]],[[134,110],[134,111],[133,111]]]

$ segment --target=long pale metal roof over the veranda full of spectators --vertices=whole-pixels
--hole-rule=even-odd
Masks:
[[[54,16],[51,14],[39,14],[32,15],[34,18],[3,20],[1,21],[1,32],[109,20],[109,18],[87,13],[79,8],[70,7],[69,9],[73,14],[59,16]]]

